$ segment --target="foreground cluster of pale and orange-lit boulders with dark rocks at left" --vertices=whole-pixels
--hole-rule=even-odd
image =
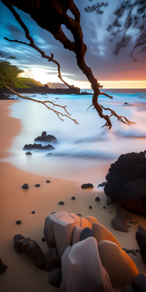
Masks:
[[[46,217],[42,239],[49,247],[46,254],[35,240],[21,234],[14,236],[15,250],[50,271],[49,282],[62,292],[114,292],[137,283],[139,272],[112,233],[94,217],[78,215],[52,212]]]

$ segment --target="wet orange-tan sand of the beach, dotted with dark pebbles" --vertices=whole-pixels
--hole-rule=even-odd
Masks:
[[[1,100],[0,105],[0,158],[9,156],[8,149],[13,138],[21,131],[21,120],[9,116],[12,103],[19,101]],[[46,183],[46,180],[51,183]],[[27,183],[29,189],[22,189]],[[41,187],[34,187],[35,184]],[[90,181],[90,183],[92,183]],[[71,200],[75,196],[76,200]],[[99,196],[101,201],[95,202]],[[8,162],[0,161],[0,258],[8,266],[4,274],[0,276],[1,292],[54,292],[59,291],[48,282],[48,272],[34,266],[33,261],[25,254],[17,254],[13,247],[13,237],[21,233],[38,242],[44,252],[48,248],[43,237],[44,220],[51,212],[66,211],[81,213],[82,216],[89,215],[97,218],[119,241],[122,248],[137,249],[135,233],[138,225],[146,228],[146,218],[129,213],[122,209],[123,214],[130,214],[132,221],[138,224],[131,225],[129,233],[122,233],[112,229],[111,219],[115,217],[118,204],[106,205],[107,196],[103,192],[97,193],[94,189],[81,189],[81,183],[61,180],[51,177],[36,176],[23,172]],[[65,205],[59,205],[64,201]],[[92,209],[89,209],[89,206]],[[106,209],[103,209],[106,206]],[[31,214],[35,211],[35,214]],[[112,211],[112,213],[109,213]],[[16,221],[21,220],[21,225]],[[130,224],[129,224],[130,225]],[[135,262],[139,272],[146,274],[146,265],[140,254],[137,256],[129,254]],[[115,290],[120,291],[120,290]]]

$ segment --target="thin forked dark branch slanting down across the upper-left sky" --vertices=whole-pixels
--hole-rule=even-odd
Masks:
[[[6,4],[5,4],[6,5]],[[22,42],[22,41],[18,41],[18,39],[15,39],[15,40],[11,40],[11,39],[8,39],[8,38],[4,38],[6,39],[7,41],[9,42],[14,42],[14,43],[21,43],[21,44],[24,44],[24,45],[27,45],[29,47],[32,47],[34,48],[36,51],[38,51],[41,55],[42,55],[42,58],[46,58],[48,59],[49,62],[53,62],[57,65],[58,67],[58,78],[65,84],[67,85],[69,88],[72,88],[74,87],[73,85],[70,85],[68,84],[66,81],[64,81],[62,79],[62,76],[61,76],[61,73],[60,73],[60,64],[59,62],[57,62],[56,60],[53,59],[54,55],[51,54],[51,57],[49,57],[48,55],[45,55],[44,51],[42,51],[41,49],[39,49],[39,47],[37,47],[34,43],[34,40],[33,38],[30,36],[30,33],[29,33],[29,30],[27,28],[27,26],[24,24],[24,22],[22,21],[22,19],[20,18],[20,15],[18,15],[18,13],[14,10],[13,6],[10,4],[10,3],[7,3],[6,5],[9,10],[12,12],[12,14],[14,15],[15,19],[18,21],[18,23],[21,25],[21,27],[23,28],[23,30],[25,31],[25,36],[26,36],[26,39],[28,39],[30,41],[30,43],[26,43],[26,42]]]

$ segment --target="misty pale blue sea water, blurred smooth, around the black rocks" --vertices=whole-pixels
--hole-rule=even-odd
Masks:
[[[91,89],[83,91],[92,92]],[[64,122],[59,120],[54,112],[48,111],[41,103],[24,99],[14,103],[10,107],[11,116],[21,120],[22,130],[13,140],[9,162],[24,171],[48,177],[85,182],[105,181],[110,164],[121,154],[146,149],[146,94],[113,93],[109,90],[110,95],[111,93],[114,99],[100,96],[99,103],[112,108],[118,115],[126,116],[136,124],[126,125],[116,117],[111,117],[112,129],[101,128],[105,121],[99,118],[92,107],[87,110],[92,103],[92,95],[38,94],[34,97],[66,105],[67,111],[72,114],[71,117],[79,124],[65,116]],[[59,99],[56,99],[57,97]],[[124,104],[125,102],[128,104]],[[64,112],[63,108],[56,108]],[[104,111],[104,114],[109,115],[110,112]],[[22,150],[24,145],[33,144],[34,138],[41,136],[43,131],[58,139],[59,144],[50,143],[56,149],[31,151],[33,155],[26,156],[27,151]],[[46,156],[49,152],[52,154]]]

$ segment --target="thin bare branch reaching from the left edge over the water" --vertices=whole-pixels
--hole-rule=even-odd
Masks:
[[[33,99],[33,98],[31,98],[31,97],[28,97],[28,96],[23,96],[23,95],[19,94],[18,92],[14,91],[14,89],[10,88],[10,87],[7,85],[7,84],[10,84],[10,83],[5,82],[5,80],[4,80],[3,77],[2,77],[2,74],[0,74],[0,78],[2,79],[3,83],[5,84],[5,87],[6,87],[7,89],[9,89],[11,92],[13,92],[13,94],[17,95],[18,97],[23,98],[23,99],[32,100],[32,101],[34,101],[34,102],[42,103],[43,105],[45,105],[45,107],[47,107],[48,110],[51,110],[51,111],[55,112],[55,114],[58,116],[58,118],[59,118],[60,120],[62,120],[63,122],[64,122],[64,120],[61,119],[61,117],[60,117],[59,115],[61,115],[61,116],[66,116],[67,118],[71,119],[75,124],[78,124],[78,122],[77,122],[75,119],[72,119],[72,118],[70,117],[71,114],[69,114],[69,112],[67,112],[67,110],[66,110],[66,107],[67,107],[67,106],[64,106],[64,107],[63,107],[62,105],[55,104],[54,102],[49,101],[49,100],[41,101],[41,100]],[[53,108],[48,107],[46,103],[51,103],[51,104],[53,105]],[[67,113],[67,115],[66,115],[66,114],[63,114],[62,112],[58,112],[57,110],[55,110],[55,109],[54,109],[55,106],[56,106],[56,107],[62,107],[62,108],[65,110],[65,112]],[[68,115],[69,115],[69,116],[68,116]]]

